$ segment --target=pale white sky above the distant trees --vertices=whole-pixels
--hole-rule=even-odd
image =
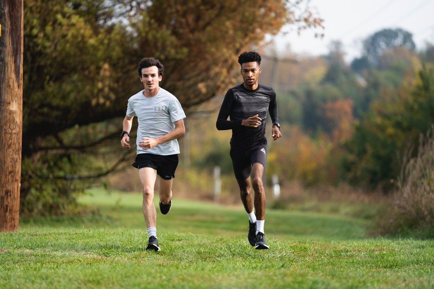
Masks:
[[[298,54],[323,55],[332,40],[340,39],[348,62],[360,56],[362,40],[384,28],[402,28],[413,34],[416,49],[434,43],[434,0],[311,0],[313,11],[324,19],[325,29],[301,32],[284,27],[274,37],[276,50],[284,53],[288,44]],[[324,33],[322,39],[315,32]]]

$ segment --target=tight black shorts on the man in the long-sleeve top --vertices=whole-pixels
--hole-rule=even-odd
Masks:
[[[259,162],[265,168],[267,156],[267,139],[261,137],[253,140],[230,140],[230,158],[237,180],[245,180],[252,172],[252,166]]]

